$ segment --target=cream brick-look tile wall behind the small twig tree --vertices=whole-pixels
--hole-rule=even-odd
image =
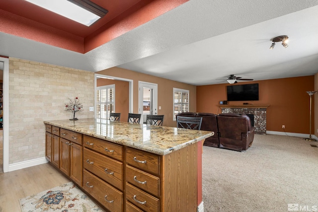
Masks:
[[[94,73],[9,58],[9,164],[45,156],[45,120],[70,119],[69,98],[79,97],[93,118]]]

